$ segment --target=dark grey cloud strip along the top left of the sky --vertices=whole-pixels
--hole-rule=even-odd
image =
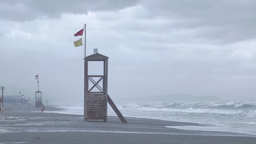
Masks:
[[[60,18],[62,13],[87,14],[88,11],[118,10],[136,4],[132,1],[33,1],[12,0],[0,2],[0,17],[5,20],[30,21],[37,18]]]

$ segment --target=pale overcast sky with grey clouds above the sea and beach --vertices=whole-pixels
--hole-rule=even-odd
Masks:
[[[109,57],[115,101],[256,99],[256,1],[1,1],[0,85],[83,104],[83,46]],[[60,100],[60,101],[58,101]]]

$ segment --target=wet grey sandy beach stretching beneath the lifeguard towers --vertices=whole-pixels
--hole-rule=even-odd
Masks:
[[[118,117],[108,122],[85,122],[83,116],[51,113],[60,110],[47,106],[44,113],[34,106],[19,105],[0,121],[0,143],[255,143],[254,135],[167,128],[166,126],[203,126],[196,123]]]

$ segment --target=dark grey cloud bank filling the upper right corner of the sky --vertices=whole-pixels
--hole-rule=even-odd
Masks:
[[[174,27],[196,29],[198,37],[223,43],[254,39],[255,1],[142,1],[149,16],[177,19]]]

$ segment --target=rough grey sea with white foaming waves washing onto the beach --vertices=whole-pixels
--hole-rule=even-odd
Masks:
[[[193,122],[204,126],[170,126],[166,128],[226,131],[256,135],[256,101],[160,101],[117,103],[125,117]],[[72,115],[83,115],[84,106],[58,106]],[[108,106],[108,115],[116,116]]]

